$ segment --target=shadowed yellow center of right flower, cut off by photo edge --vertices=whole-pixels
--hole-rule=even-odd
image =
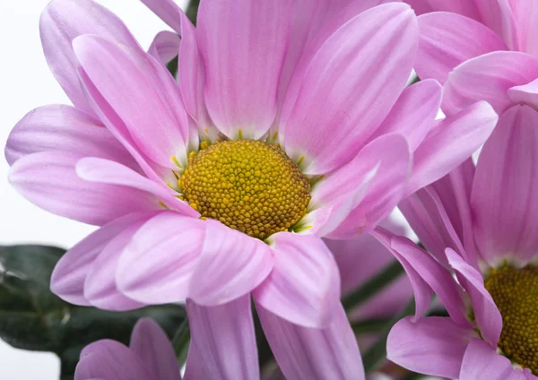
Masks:
[[[538,374],[538,268],[494,270],[485,286],[502,315],[499,349]]]

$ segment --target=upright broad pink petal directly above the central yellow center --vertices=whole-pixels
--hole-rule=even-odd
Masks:
[[[290,0],[200,4],[205,101],[215,125],[230,138],[258,139],[273,124],[290,13]]]

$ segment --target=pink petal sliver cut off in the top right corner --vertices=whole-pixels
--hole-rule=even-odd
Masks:
[[[512,1],[517,30],[518,50],[538,56],[538,3],[534,0]]]

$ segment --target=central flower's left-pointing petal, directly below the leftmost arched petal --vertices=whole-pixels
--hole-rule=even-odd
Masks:
[[[84,223],[103,225],[130,212],[159,210],[152,194],[86,182],[75,173],[79,154],[41,151],[17,160],[9,181],[31,203]]]

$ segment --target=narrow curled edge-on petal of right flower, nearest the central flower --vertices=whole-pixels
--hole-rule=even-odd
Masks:
[[[374,238],[377,238],[377,240],[383,244],[383,246],[386,246],[386,248],[391,251],[395,258],[404,267],[409,281],[411,282],[415,298],[415,316],[413,317],[413,320],[421,318],[421,316],[428,311],[431,305],[433,291],[430,285],[428,285],[428,283],[422,279],[421,275],[415,271],[412,265],[408,263],[402,255],[392,249],[391,244],[392,238],[395,236],[394,233],[377,226],[377,228],[374,229],[371,234],[374,236]]]

